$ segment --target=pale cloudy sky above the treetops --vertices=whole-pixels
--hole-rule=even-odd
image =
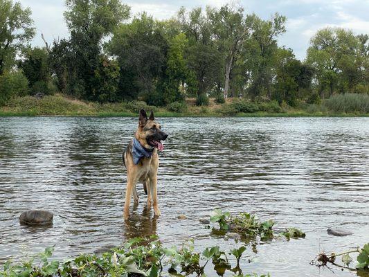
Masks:
[[[63,17],[64,0],[18,0],[30,7],[37,33],[34,46],[44,46],[41,33],[48,42],[58,37],[68,37]],[[230,1],[222,0],[127,0],[132,15],[146,11],[156,19],[169,19],[181,6],[188,9],[207,5],[222,6]],[[237,2],[246,12],[262,19],[269,19],[278,12],[287,17],[287,32],[278,38],[280,46],[292,48],[296,57],[305,59],[309,39],[326,26],[350,28],[354,33],[369,33],[369,0],[240,0]]]

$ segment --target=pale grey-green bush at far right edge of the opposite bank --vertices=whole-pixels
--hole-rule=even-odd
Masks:
[[[337,94],[323,103],[327,109],[334,112],[369,113],[369,95],[358,93]]]

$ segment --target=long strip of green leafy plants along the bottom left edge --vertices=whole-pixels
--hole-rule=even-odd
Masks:
[[[19,265],[6,262],[1,277],[82,277],[82,276],[147,276],[158,277],[175,274],[177,276],[204,276],[208,262],[214,265],[217,274],[223,275],[230,270],[235,276],[258,277],[258,275],[242,275],[240,258],[245,247],[233,249],[228,254],[235,256],[237,265],[232,267],[228,256],[219,247],[208,247],[202,253],[196,252],[193,241],[181,247],[165,248],[157,238],[144,240],[134,238],[123,244],[123,247],[112,249],[101,256],[82,254],[64,262],[51,260],[53,247]],[[268,275],[269,276],[269,275]],[[267,277],[262,275],[260,277]]]

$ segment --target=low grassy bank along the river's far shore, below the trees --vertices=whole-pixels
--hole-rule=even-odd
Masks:
[[[363,96],[360,96],[361,98]],[[141,108],[152,109],[159,117],[298,117],[298,116],[369,116],[369,106],[363,106],[367,95],[357,101],[357,97],[350,100],[339,96],[336,99],[327,100],[320,105],[300,105],[292,108],[287,105],[278,105],[276,102],[250,103],[242,100],[229,100],[224,104],[217,104],[210,99],[208,106],[198,107],[193,99],[186,100],[186,105],[169,105],[168,107],[148,106],[145,102],[118,102],[100,104],[75,100],[61,94],[35,98],[24,96],[13,98],[7,104],[0,107],[0,116],[137,116]],[[347,103],[347,104],[345,104]]]

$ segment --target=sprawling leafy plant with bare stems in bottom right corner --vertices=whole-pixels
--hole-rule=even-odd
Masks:
[[[352,268],[349,267],[352,262],[350,253],[359,253],[357,256],[357,265]],[[336,263],[336,258],[341,256],[343,266]],[[314,260],[310,262],[310,265],[316,265],[317,267],[327,266],[327,263],[335,265],[337,267],[346,267],[350,270],[369,270],[369,243],[364,244],[363,248],[357,247],[343,253],[332,253],[329,256],[325,252],[321,252]]]

